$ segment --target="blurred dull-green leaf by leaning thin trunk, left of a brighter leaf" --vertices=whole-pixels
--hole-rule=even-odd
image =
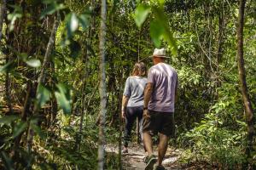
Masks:
[[[40,83],[38,87],[38,94],[37,94],[39,108],[42,108],[45,105],[45,103],[49,100],[49,96],[50,96],[49,90]]]

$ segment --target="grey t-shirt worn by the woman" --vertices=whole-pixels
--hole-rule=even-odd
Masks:
[[[124,95],[129,97],[127,107],[144,105],[144,88],[147,83],[146,77],[128,77],[125,82]]]

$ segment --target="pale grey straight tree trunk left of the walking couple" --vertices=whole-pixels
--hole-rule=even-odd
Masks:
[[[101,28],[100,28],[100,97],[101,97],[101,111],[100,111],[100,127],[99,127],[99,147],[98,147],[98,169],[104,168],[104,145],[105,145],[105,122],[106,122],[106,73],[105,73],[105,41],[106,41],[106,18],[107,18],[107,4],[106,0],[102,0],[101,13]]]

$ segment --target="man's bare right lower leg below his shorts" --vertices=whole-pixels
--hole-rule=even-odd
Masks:
[[[169,140],[169,137],[166,136],[166,134],[160,133],[160,142],[158,144],[158,165],[162,164],[162,161],[166,156],[168,140]]]

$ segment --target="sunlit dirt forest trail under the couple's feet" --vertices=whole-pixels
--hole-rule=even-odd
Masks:
[[[119,154],[119,147],[118,145],[107,145],[106,151],[110,153]],[[157,148],[154,148],[154,154],[157,156]],[[181,167],[178,167],[175,165],[175,162],[178,160],[178,158],[181,155],[180,150],[174,150],[170,147],[168,147],[166,151],[166,157],[163,161],[164,167],[166,167],[166,170],[171,169],[172,170],[179,170],[182,169]],[[145,152],[143,150],[142,145],[133,144],[129,147],[128,153],[122,155],[122,166],[124,170],[144,170],[145,169],[145,163],[143,162],[143,158],[145,156]]]

